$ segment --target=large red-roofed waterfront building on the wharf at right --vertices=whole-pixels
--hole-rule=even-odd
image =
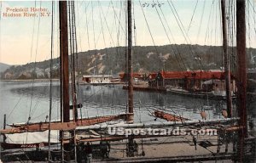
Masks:
[[[231,76],[231,91],[236,91],[234,76]],[[151,73],[149,87],[175,87],[187,91],[219,92],[225,91],[225,76],[222,71],[160,71]]]

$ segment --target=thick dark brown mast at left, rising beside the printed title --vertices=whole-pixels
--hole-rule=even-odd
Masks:
[[[63,122],[69,122],[69,76],[68,76],[68,33],[67,33],[67,1],[60,1],[60,43],[61,43],[61,78]]]

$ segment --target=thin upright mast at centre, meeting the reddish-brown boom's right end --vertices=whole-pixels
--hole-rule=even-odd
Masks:
[[[133,123],[133,85],[132,85],[132,20],[131,20],[131,0],[127,0],[128,11],[128,123]]]

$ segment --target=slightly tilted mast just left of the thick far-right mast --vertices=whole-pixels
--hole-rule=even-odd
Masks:
[[[224,53],[224,70],[226,83],[226,104],[228,117],[232,116],[232,101],[230,91],[230,56],[228,53],[228,39],[227,39],[227,23],[225,13],[225,0],[221,0],[221,14],[222,14],[222,33],[223,33],[223,53]]]

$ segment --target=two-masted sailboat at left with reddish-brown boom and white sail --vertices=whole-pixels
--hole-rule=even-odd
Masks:
[[[130,9],[131,15],[131,1],[128,1],[128,10]],[[70,5],[72,6],[72,5]],[[70,7],[69,6],[69,7]],[[73,71],[72,83],[73,83],[73,104],[70,104],[69,99],[69,59],[68,59],[68,25],[67,25],[67,1],[59,2],[59,20],[60,20],[60,65],[61,65],[61,121],[43,121],[43,122],[26,122],[26,123],[16,123],[11,124],[10,128],[5,128],[0,130],[0,133],[4,137],[4,142],[1,143],[3,149],[27,149],[36,148],[40,149],[46,145],[61,143],[61,160],[63,160],[63,150],[68,150],[68,144],[73,143],[76,146],[77,140],[75,135],[75,130],[78,126],[91,126],[98,123],[106,121],[117,121],[125,120],[128,123],[133,122],[133,101],[132,101],[132,79],[130,75],[129,80],[129,113],[119,114],[119,115],[105,115],[96,116],[92,118],[79,118],[78,108],[82,107],[82,104],[77,104],[77,95],[75,90],[75,71]],[[131,17],[130,21],[131,23]],[[131,25],[128,28],[131,32]],[[131,35],[131,34],[130,34]],[[71,36],[70,36],[71,37]],[[130,69],[128,69],[128,74],[132,73],[131,70],[131,37],[128,40],[128,54],[130,53]],[[73,60],[73,67],[74,65]],[[74,70],[74,69],[73,69]],[[73,118],[70,116],[70,110],[73,110]],[[64,135],[70,135],[69,138]],[[60,138],[57,136],[60,135]],[[24,143],[24,138],[26,138],[26,143]],[[50,139],[50,140],[49,140]],[[13,140],[10,143],[9,140]],[[16,142],[14,142],[14,140]],[[75,148],[76,149],[76,148]],[[44,160],[47,158],[47,151],[36,151],[35,153],[27,152],[25,155],[30,155],[31,160]],[[14,154],[15,155],[15,154]],[[40,155],[40,156],[38,156]],[[23,157],[19,155],[20,157]],[[65,155],[66,156],[66,155]],[[11,158],[10,158],[11,159]]]

